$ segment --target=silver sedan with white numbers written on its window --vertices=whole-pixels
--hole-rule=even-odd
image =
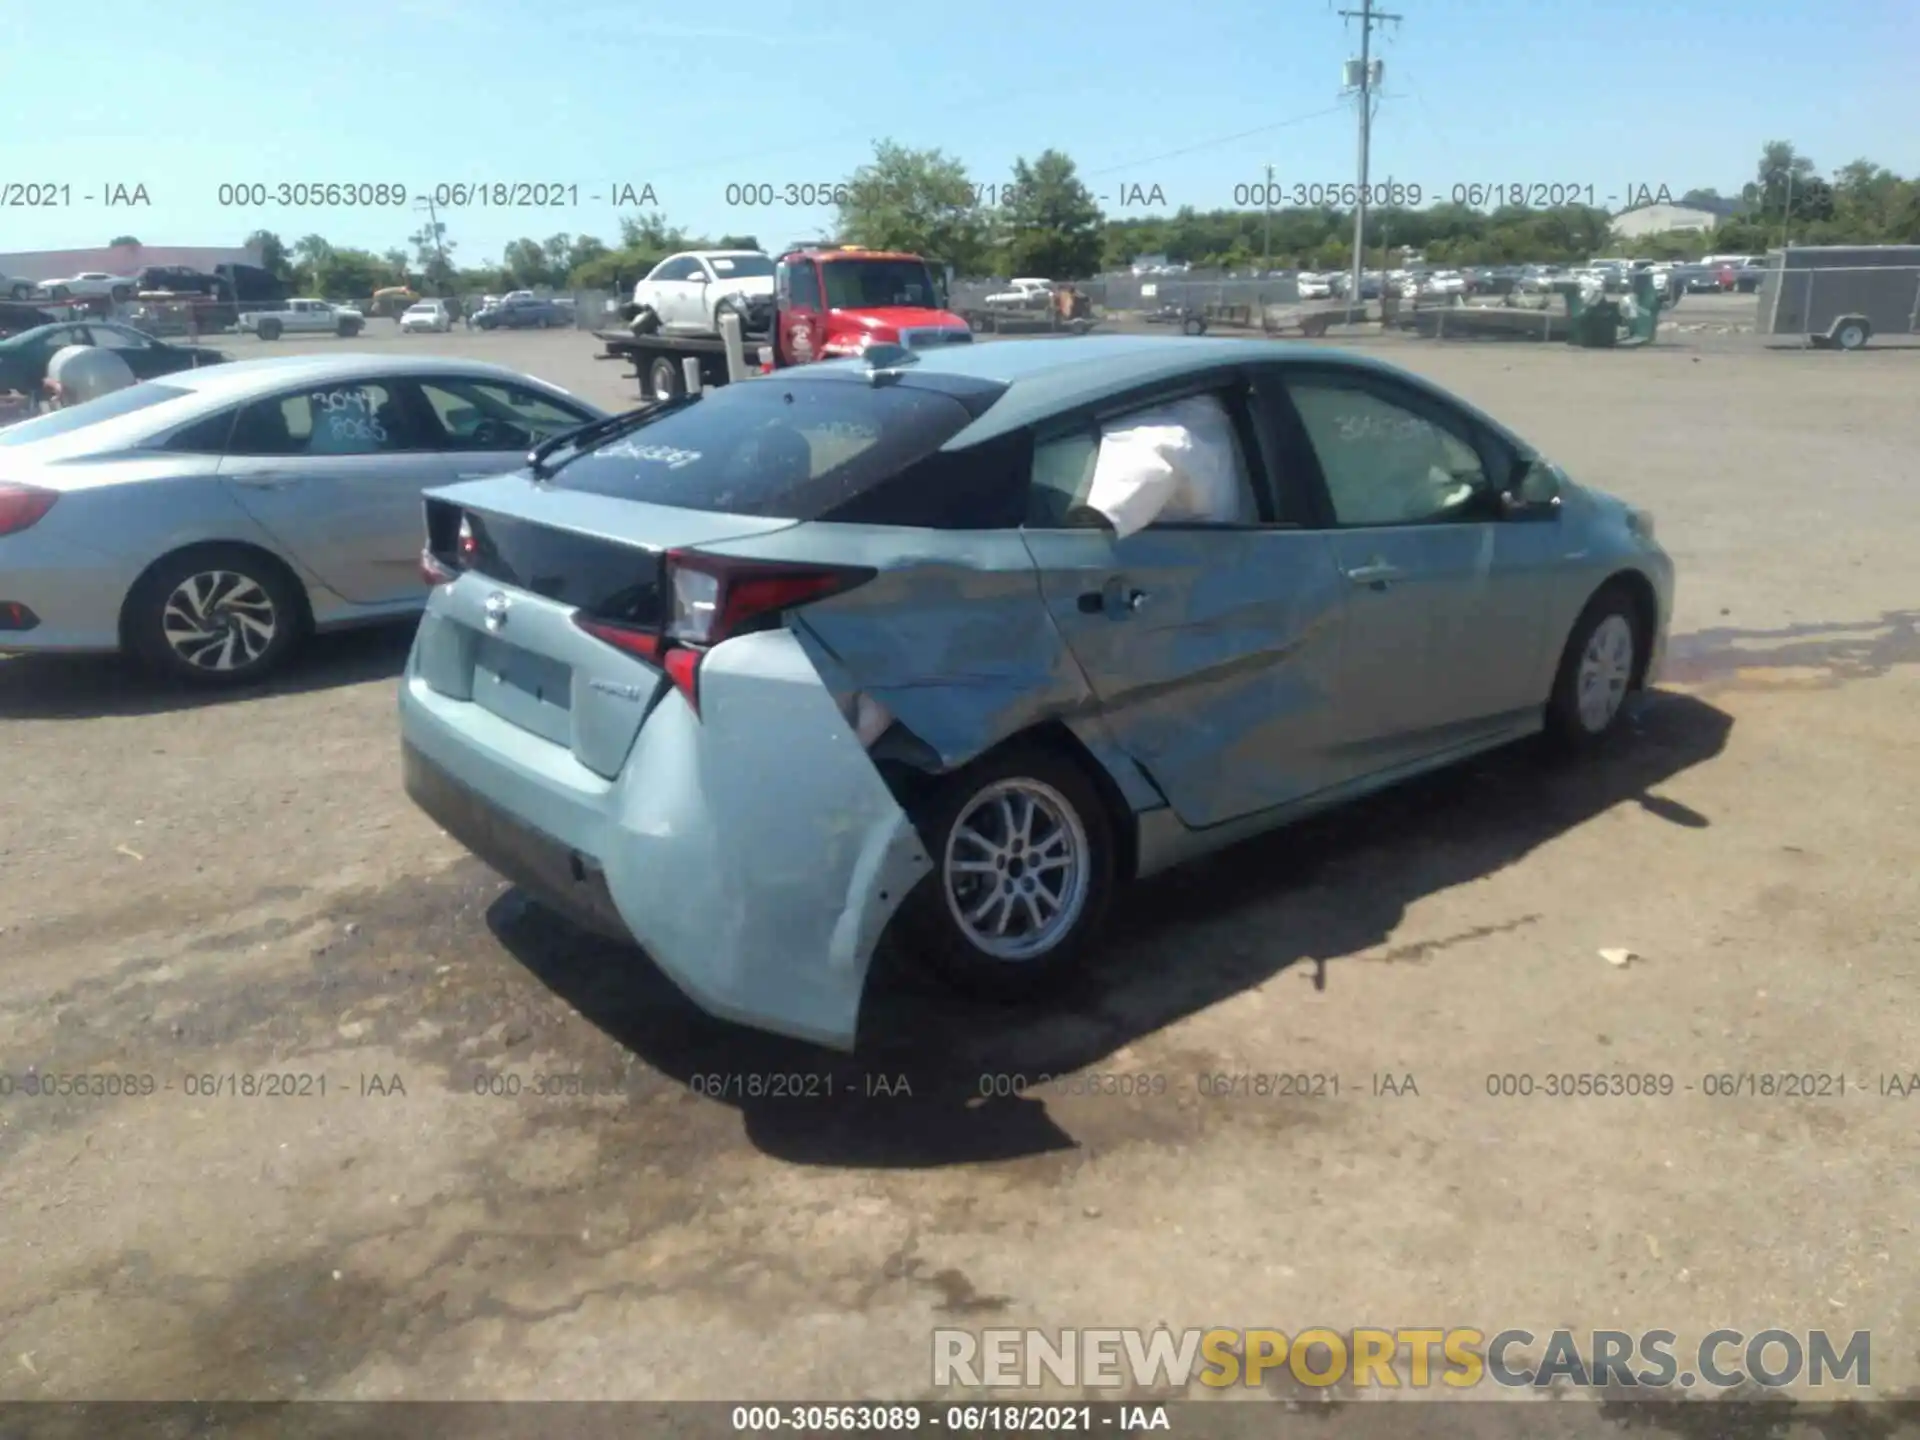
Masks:
[[[420,490],[603,415],[499,365],[294,355],[0,428],[0,651],[255,680],[317,630],[422,609]]]

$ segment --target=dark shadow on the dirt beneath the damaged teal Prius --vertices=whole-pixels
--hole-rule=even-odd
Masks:
[[[1707,816],[1653,791],[1718,755],[1730,730],[1732,718],[1705,701],[1655,693],[1636,705],[1620,743],[1584,764],[1515,745],[1158,876],[1121,899],[1096,972],[1044,1006],[960,1000],[883,945],[851,1056],[714,1020],[653,964],[555,922],[518,891],[493,904],[488,924],[618,1044],[737,1106],[749,1139],[772,1156],[868,1167],[1010,1160],[1077,1142],[1044,1100],[1000,1094],[1008,1087],[995,1077],[1085,1069],[1300,962],[1325,987],[1331,962],[1384,945],[1409,904],[1494,874],[1617,804],[1703,829]],[[1256,904],[1271,916],[1258,943],[1223,925]],[[1440,947],[1405,948],[1386,958]]]

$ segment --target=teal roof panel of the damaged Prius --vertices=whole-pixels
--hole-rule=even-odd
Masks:
[[[1188,374],[1275,361],[1311,361],[1404,376],[1392,365],[1332,346],[1304,346],[1292,340],[1144,334],[945,346],[920,351],[918,363],[906,367],[904,376],[954,374],[1006,386],[1006,394],[947,445],[962,449],[1008,430],[1048,420],[1064,411],[1098,405],[1104,399],[1177,382]],[[828,361],[820,369],[845,376],[864,374],[860,361]]]

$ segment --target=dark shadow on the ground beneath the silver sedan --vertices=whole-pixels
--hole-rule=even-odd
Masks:
[[[407,666],[413,632],[415,622],[403,620],[315,636],[284,670],[234,689],[167,680],[117,655],[13,655],[0,659],[0,720],[169,714],[396,680]]]

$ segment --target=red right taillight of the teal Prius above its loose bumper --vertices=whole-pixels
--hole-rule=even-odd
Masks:
[[[660,630],[616,624],[586,612],[574,624],[628,655],[659,664],[699,714],[701,659],[724,639],[764,630],[785,611],[843,595],[874,578],[847,564],[735,561],[699,551],[666,551],[660,584],[670,609]]]

